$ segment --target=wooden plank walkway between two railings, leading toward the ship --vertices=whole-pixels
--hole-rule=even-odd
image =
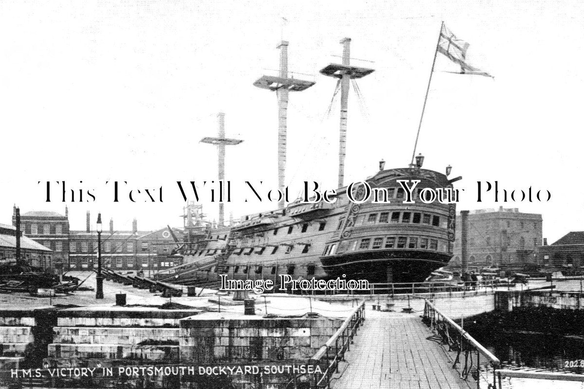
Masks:
[[[333,389],[469,389],[418,314],[367,311]],[[469,377],[470,379],[470,377]],[[474,381],[470,379],[474,384]]]

